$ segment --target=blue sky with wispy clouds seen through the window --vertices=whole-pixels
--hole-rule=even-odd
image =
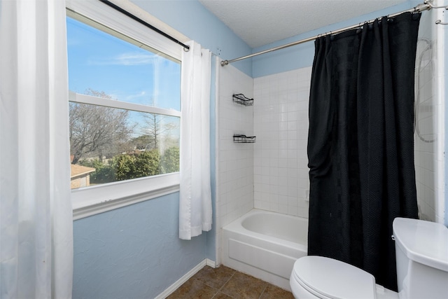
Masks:
[[[67,18],[69,89],[180,110],[181,64]]]

